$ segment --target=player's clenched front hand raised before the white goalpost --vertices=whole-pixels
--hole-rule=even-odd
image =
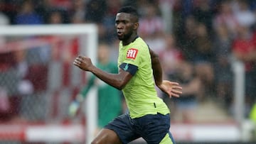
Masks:
[[[93,66],[92,60],[89,57],[84,57],[82,55],[76,57],[73,64],[85,71],[90,71],[90,68]]]

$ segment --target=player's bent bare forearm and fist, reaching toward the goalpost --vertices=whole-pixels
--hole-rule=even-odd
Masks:
[[[78,56],[75,58],[73,64],[82,70],[92,72],[92,74],[95,74],[96,77],[102,79],[102,81],[119,90],[124,88],[127,82],[129,82],[129,79],[132,79],[132,74],[125,72],[122,69],[119,70],[118,74],[110,74],[100,70],[99,68],[95,67],[95,65],[92,65],[92,61],[89,57]]]

